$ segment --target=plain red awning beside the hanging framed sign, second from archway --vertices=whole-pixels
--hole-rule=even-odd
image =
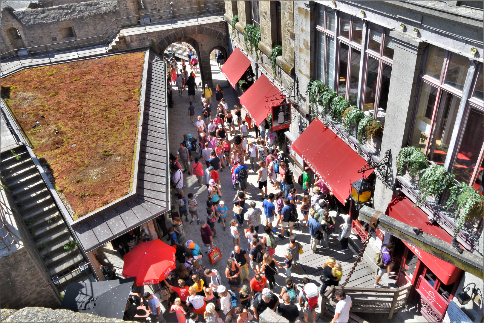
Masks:
[[[276,99],[276,100],[274,100]],[[240,103],[256,124],[260,124],[286,97],[265,75],[261,75],[240,97]],[[273,100],[273,101],[272,101]]]

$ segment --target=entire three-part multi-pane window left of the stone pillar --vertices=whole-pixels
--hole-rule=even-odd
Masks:
[[[383,126],[395,47],[389,30],[323,5],[316,14],[315,78]]]

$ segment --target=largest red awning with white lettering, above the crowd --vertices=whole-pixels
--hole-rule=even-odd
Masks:
[[[313,169],[318,178],[333,192],[336,199],[345,203],[351,183],[362,178],[358,172],[365,164],[358,153],[339,138],[324,123],[315,119],[292,143],[292,149]],[[372,170],[365,172],[368,177]]]

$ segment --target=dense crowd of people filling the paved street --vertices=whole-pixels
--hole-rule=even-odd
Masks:
[[[223,64],[223,61],[220,62]],[[184,74],[186,66],[183,60],[181,65],[181,73]],[[193,66],[195,68],[196,65]],[[173,69],[176,71],[172,68],[170,72]],[[171,79],[174,76],[172,74]],[[296,181],[289,165],[279,156],[278,134],[268,121],[255,124],[248,114],[242,118],[240,107],[229,109],[220,84],[216,85],[214,92],[205,84],[198,112],[195,88],[191,91],[192,76],[187,77],[188,85],[185,80],[182,81],[181,89],[188,87],[188,117],[194,130],[182,136],[178,154],[170,152],[169,157],[170,188],[174,196],[171,211],[173,226],[165,229],[167,241],[176,248],[176,269],[163,285],[171,293],[168,298],[170,312],[176,313],[179,323],[246,323],[258,320],[266,308],[271,308],[289,322],[299,322],[300,316],[308,322],[310,313],[313,322],[316,322],[318,295],[322,295],[328,286],[339,284],[341,264],[333,258],[324,263],[320,276],[323,284],[319,292],[316,284],[307,277],[302,279],[302,287],[298,287],[292,272],[298,271],[302,246],[292,231],[308,227],[312,252],[317,251],[319,241],[323,248],[328,248],[328,237],[335,233],[335,221],[329,216],[329,211],[336,210],[339,215],[337,200],[322,180],[310,175],[309,168]],[[182,91],[179,94],[182,95]],[[252,131],[254,137],[250,135]],[[232,138],[229,139],[229,136]],[[220,177],[224,173],[230,176],[233,188],[237,190],[235,195],[230,196],[228,188],[222,187]],[[251,200],[247,198],[249,173],[257,177],[262,208],[257,207],[254,196]],[[187,176],[196,178],[197,190],[186,192]],[[295,188],[296,183],[302,187],[302,199]],[[268,185],[275,193],[269,192]],[[202,187],[205,187],[206,199],[200,198],[204,194],[200,191]],[[231,203],[226,203],[223,198]],[[232,205],[227,207],[227,204]],[[262,223],[262,215],[265,215],[265,223]],[[343,218],[345,223],[340,226],[338,240],[341,250],[345,251],[348,250],[351,220],[348,215]],[[184,225],[192,225],[195,221],[200,228],[204,249],[184,231]],[[217,233],[217,227],[227,232]],[[219,234],[229,234],[234,245],[228,259],[224,255],[218,260],[227,261],[225,272],[221,273],[206,260],[216,249],[213,240]],[[276,255],[278,242],[286,238],[286,250]],[[274,256],[283,260],[277,261]],[[249,278],[249,270],[254,271],[252,279]],[[279,271],[286,276],[286,281],[276,291],[275,277],[280,274]],[[222,283],[224,276],[228,280],[227,285]],[[153,306],[149,305],[151,314],[155,320],[163,322],[162,313],[157,309],[159,306],[156,307],[156,301],[150,303],[153,299],[150,297],[144,299],[148,304],[153,303]],[[348,322],[351,301],[344,293],[338,297],[340,303],[348,305],[341,306],[334,322]]]

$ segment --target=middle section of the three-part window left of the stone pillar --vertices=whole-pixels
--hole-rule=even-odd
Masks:
[[[344,96],[350,105],[356,105],[358,101],[362,35],[363,20],[341,13],[337,92]]]

